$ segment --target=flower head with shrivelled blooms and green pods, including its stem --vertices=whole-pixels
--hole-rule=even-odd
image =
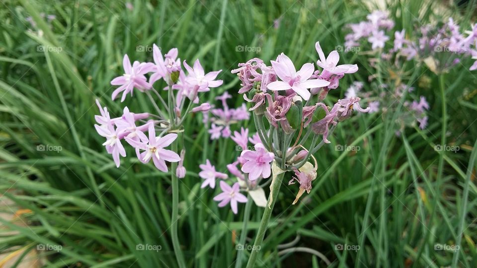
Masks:
[[[251,103],[259,139],[253,150],[243,150],[239,157],[240,171],[248,177],[244,187],[257,179],[271,177],[270,195],[247,267],[254,266],[256,249],[263,241],[284,173],[290,171],[296,176],[289,182],[299,187],[295,203],[305,191],[310,192],[317,176],[316,162],[310,163],[310,157],[330,142],[329,135],[339,122],[351,117],[353,110],[369,111],[360,107],[358,97],[340,99],[332,107],[322,102],[330,90],[338,87],[345,74],[356,72],[358,67],[338,65],[336,51],[325,57],[319,42],[316,50],[320,69],[306,63],[297,70],[292,60],[282,53],[271,61],[271,66],[254,58],[232,71],[241,81],[239,93]],[[237,140],[245,141],[237,136]],[[236,192],[234,188],[223,190],[224,193]],[[224,200],[226,195],[219,196],[217,200]]]

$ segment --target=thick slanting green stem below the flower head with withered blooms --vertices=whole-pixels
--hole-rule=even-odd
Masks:
[[[263,211],[263,216],[262,220],[260,221],[260,226],[258,227],[255,243],[253,244],[252,252],[250,254],[250,257],[248,258],[247,268],[253,268],[257,260],[258,251],[260,250],[263,238],[265,237],[265,232],[268,228],[268,222],[270,221],[270,216],[272,215],[273,206],[277,201],[277,196],[280,192],[280,186],[282,185],[284,175],[285,173],[278,174],[275,180],[272,181],[272,185],[270,185],[271,195],[268,197],[268,202],[270,203],[270,205],[267,204],[265,206],[265,211]]]

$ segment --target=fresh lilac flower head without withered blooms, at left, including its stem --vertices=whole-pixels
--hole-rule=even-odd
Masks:
[[[171,238],[174,253],[179,267],[185,267],[177,237],[178,217],[178,178],[185,177],[186,170],[183,166],[185,151],[178,154],[177,137],[183,132],[183,122],[190,113],[206,112],[210,109],[208,103],[200,104],[199,92],[210,91],[210,88],[222,85],[222,80],[216,80],[219,71],[205,73],[199,60],[193,66],[186,61],[181,66],[178,50],[173,48],[162,55],[158,46],[153,46],[154,62],[131,64],[128,55],[123,58],[123,74],[111,81],[118,86],[112,93],[115,100],[121,95],[123,102],[128,95],[133,96],[135,90],[147,94],[151,100],[154,112],[134,113],[124,107],[123,114],[111,118],[110,111],[102,107],[98,100],[100,115],[95,116],[96,131],[105,137],[103,145],[112,155],[117,167],[120,158],[126,157],[125,144],[135,150],[135,157],[143,163],[153,162],[157,169],[168,172],[167,162],[170,162],[172,181],[172,219]],[[163,80],[164,82],[160,82]],[[167,98],[162,98],[160,91],[155,88],[165,85],[160,89],[167,91]],[[158,105],[159,103],[159,105]],[[166,149],[170,146],[170,149]],[[178,165],[177,165],[178,162]],[[177,178],[178,177],[178,178]]]

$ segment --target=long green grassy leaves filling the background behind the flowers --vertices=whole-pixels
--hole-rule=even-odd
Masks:
[[[345,25],[365,19],[374,9],[344,0],[132,4],[133,11],[124,1],[1,1],[0,191],[2,200],[13,204],[0,207],[11,214],[20,208],[32,211],[15,222],[0,218],[2,253],[18,246],[32,251],[41,243],[63,246],[58,253],[41,252],[48,267],[176,267],[169,236],[170,177],[139,163],[131,148],[116,168],[93,128],[96,98],[114,116],[124,105],[132,112],[154,112],[147,96],[138,91],[124,103],[111,101],[109,82],[122,73],[123,55],[152,61],[152,52],[137,47],[177,47],[182,60],[200,59],[207,70],[223,69],[219,78],[224,85],[201,100],[228,90],[234,95],[230,105],[238,106],[243,102],[236,93],[239,79],[230,70],[239,63],[253,57],[268,61],[281,52],[297,65],[316,62],[316,41],[324,51],[334,50],[344,43]],[[391,1],[387,9],[395,28],[408,33],[416,23],[443,21],[450,15],[462,28],[475,22],[472,4],[401,0]],[[49,24],[40,18],[41,12],[57,18]],[[37,28],[25,20],[28,16],[37,21]],[[275,29],[277,18],[281,22]],[[62,51],[38,51],[41,45]],[[238,52],[239,45],[260,47],[260,52]],[[368,64],[370,55],[340,56],[342,63],[356,63],[360,70],[340,81],[330,102],[342,98],[354,80],[365,82],[366,91],[368,76],[377,72]],[[291,205],[297,188],[282,187],[257,265],[326,266],[316,255],[287,253],[279,247],[299,237],[294,247],[319,251],[332,267],[476,267],[477,187],[472,166],[477,154],[477,80],[468,70],[471,65],[472,60],[464,60],[441,77],[443,84],[425,65],[407,62],[401,67],[404,83],[416,87],[430,103],[424,131],[408,128],[395,135],[401,104],[388,113],[340,123],[332,143],[315,154],[318,178],[304,201]],[[385,71],[378,75],[388,79]],[[447,102],[446,143],[461,146],[457,153],[434,150],[443,129],[440,86]],[[247,125],[253,130],[253,122]],[[62,150],[38,151],[39,144]],[[179,240],[187,265],[233,267],[244,205],[238,215],[219,209],[212,200],[217,193],[199,189],[197,172],[206,158],[225,172],[239,152],[232,140],[209,141],[200,116],[185,123],[181,144],[187,148],[188,173],[179,184]],[[336,144],[361,150],[336,151]],[[251,239],[262,212],[252,206]],[[436,251],[437,243],[461,249]],[[138,251],[137,244],[160,245],[161,250]],[[336,244],[358,245],[360,250],[337,251]]]

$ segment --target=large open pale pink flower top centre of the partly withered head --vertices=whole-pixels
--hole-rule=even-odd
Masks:
[[[308,88],[328,86],[329,82],[322,79],[308,80],[315,67],[311,63],[304,64],[299,71],[296,71],[293,62],[285,54],[280,54],[277,61],[270,61],[273,69],[282,81],[274,81],[267,85],[270,90],[288,90],[293,89],[303,99],[310,98]]]

